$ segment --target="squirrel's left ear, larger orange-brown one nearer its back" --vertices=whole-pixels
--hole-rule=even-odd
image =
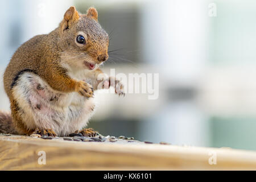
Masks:
[[[61,22],[61,30],[67,30],[72,23],[79,20],[79,13],[76,11],[74,6],[69,7],[69,9],[64,14],[64,19]]]

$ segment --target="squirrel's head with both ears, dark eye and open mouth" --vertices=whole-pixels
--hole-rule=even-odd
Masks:
[[[90,7],[79,14],[70,7],[59,26],[58,45],[62,61],[70,68],[92,70],[108,60],[109,36],[98,23],[98,13]]]

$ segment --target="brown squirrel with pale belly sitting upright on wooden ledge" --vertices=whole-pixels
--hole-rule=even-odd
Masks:
[[[74,6],[55,30],[23,43],[3,75],[11,114],[0,113],[0,133],[94,137],[96,131],[84,129],[94,113],[94,90],[113,86],[124,94],[119,80],[98,79],[108,47],[97,10],[80,14]]]

